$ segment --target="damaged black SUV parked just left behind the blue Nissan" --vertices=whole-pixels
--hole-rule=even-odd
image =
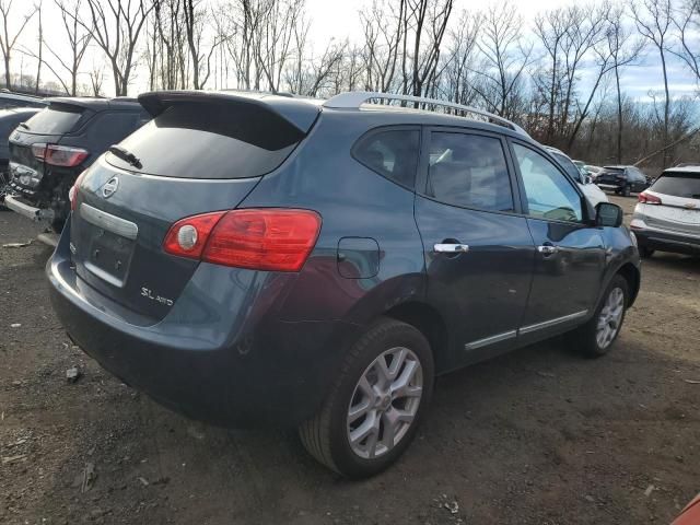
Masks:
[[[5,206],[60,232],[78,175],[148,119],[135,98],[51,98],[10,137]]]

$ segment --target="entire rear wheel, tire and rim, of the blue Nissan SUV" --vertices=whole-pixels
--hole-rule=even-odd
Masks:
[[[316,416],[300,427],[306,450],[350,478],[373,476],[408,447],[430,401],[433,357],[423,335],[395,319],[350,349]]]

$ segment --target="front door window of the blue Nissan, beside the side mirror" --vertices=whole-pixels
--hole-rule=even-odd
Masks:
[[[581,197],[555,164],[535,150],[513,144],[529,214],[557,221],[581,221]]]

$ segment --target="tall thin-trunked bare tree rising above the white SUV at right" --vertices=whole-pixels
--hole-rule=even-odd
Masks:
[[[634,0],[629,3],[632,18],[640,35],[652,44],[661,59],[662,73],[664,78],[664,126],[663,141],[668,143],[668,122],[670,118],[670,94],[668,92],[668,71],[666,67],[666,52],[668,48],[668,37],[673,24],[670,0]],[[672,151],[663,151],[663,167],[668,165]]]

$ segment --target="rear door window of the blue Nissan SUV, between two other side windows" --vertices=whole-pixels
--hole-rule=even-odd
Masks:
[[[448,205],[513,211],[501,141],[479,135],[431,133],[427,192]]]

